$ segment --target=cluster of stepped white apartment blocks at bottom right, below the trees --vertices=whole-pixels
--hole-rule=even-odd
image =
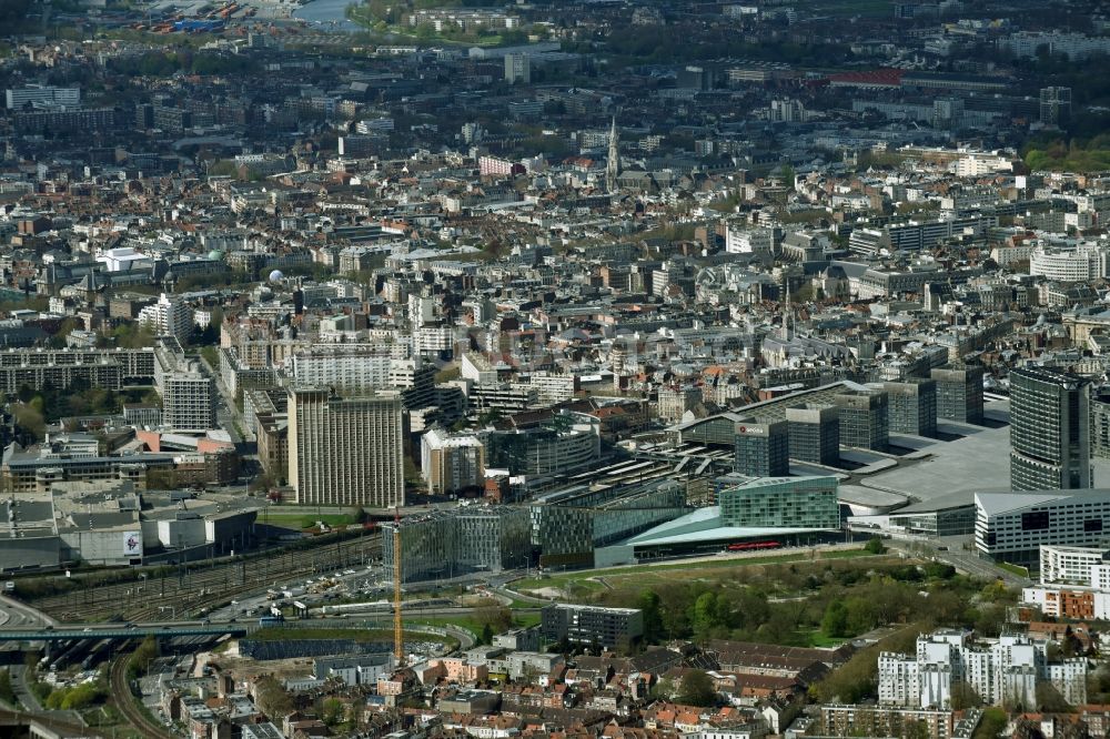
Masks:
[[[1037,685],[1048,681],[1073,705],[1087,701],[1087,660],[1049,665],[1046,642],[1003,635],[979,645],[970,634],[938,630],[917,640],[917,654],[879,655],[879,703],[951,708],[952,684],[967,682],[988,705],[1037,705]]]

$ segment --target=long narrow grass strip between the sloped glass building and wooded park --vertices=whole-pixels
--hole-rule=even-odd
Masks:
[[[816,556],[814,553],[816,551]],[[652,585],[656,583],[670,583],[676,579],[689,579],[689,573],[696,570],[698,576],[712,577],[727,575],[746,567],[759,565],[776,565],[791,561],[826,561],[830,559],[855,559],[857,557],[874,557],[865,549],[838,549],[835,551],[820,551],[801,549],[789,554],[768,555],[765,557],[743,557],[736,559],[707,559],[703,561],[679,563],[670,565],[636,565],[632,567],[614,567],[612,569],[592,569],[559,575],[551,575],[544,578],[529,578],[516,580],[511,584],[514,590],[528,591],[542,588],[558,588],[566,590],[567,586],[586,590],[601,590],[605,580],[614,588],[622,587],[633,580],[637,586]],[[884,556],[884,555],[878,555]]]

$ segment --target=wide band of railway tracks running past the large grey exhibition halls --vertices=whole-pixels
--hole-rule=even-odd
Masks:
[[[135,579],[73,589],[29,600],[30,605],[63,621],[157,620],[162,614],[181,616],[220,605],[238,595],[316,574],[361,566],[381,549],[379,535],[333,541],[307,549],[289,549],[266,557],[218,563],[159,577],[138,573]]]

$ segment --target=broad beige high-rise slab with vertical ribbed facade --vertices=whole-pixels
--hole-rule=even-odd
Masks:
[[[289,391],[289,479],[301,505],[404,505],[401,396]]]

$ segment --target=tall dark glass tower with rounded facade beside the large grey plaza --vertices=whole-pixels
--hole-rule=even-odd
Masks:
[[[1090,384],[1046,367],[1010,373],[1010,489],[1091,487]]]

